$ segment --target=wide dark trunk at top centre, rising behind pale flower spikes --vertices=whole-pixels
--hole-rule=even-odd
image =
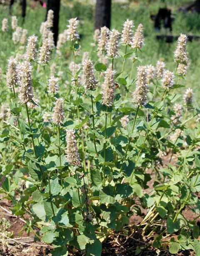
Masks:
[[[111,0],[97,0],[95,12],[95,29],[103,26],[110,28]]]

